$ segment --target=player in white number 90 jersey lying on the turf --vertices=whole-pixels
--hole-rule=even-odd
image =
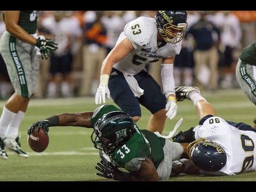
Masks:
[[[253,127],[215,116],[212,106],[197,87],[176,87],[175,91],[177,101],[189,99],[194,102],[201,119],[196,127],[173,137],[174,142],[192,142],[187,147],[187,158],[191,161],[182,159],[179,171],[215,176],[256,171],[256,130]]]

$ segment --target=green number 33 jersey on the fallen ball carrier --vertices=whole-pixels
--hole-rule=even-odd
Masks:
[[[111,111],[121,110],[113,105],[103,105],[95,109],[92,116],[92,125],[94,126],[99,118]],[[134,130],[129,139],[108,154],[111,162],[128,171],[137,171],[140,169],[141,162],[148,157],[157,169],[164,159],[165,139],[157,137],[156,134],[148,130],[140,130],[137,124],[134,125]]]

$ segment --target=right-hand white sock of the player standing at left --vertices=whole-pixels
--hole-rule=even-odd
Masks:
[[[19,126],[24,116],[25,113],[23,111],[19,111],[17,115],[12,119],[5,133],[7,139],[16,139],[18,137]]]

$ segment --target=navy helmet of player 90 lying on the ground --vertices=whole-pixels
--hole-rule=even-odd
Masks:
[[[207,172],[220,171],[227,162],[224,149],[205,138],[191,142],[187,147],[187,154],[198,169]]]

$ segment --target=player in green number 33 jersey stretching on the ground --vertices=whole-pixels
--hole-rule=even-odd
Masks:
[[[81,126],[94,128],[94,147],[103,150],[111,163],[98,163],[98,175],[119,181],[157,181],[169,179],[172,161],[186,153],[188,143],[175,143],[159,133],[140,130],[132,117],[113,105],[102,105],[94,112],[54,115],[34,123],[45,134],[50,126]],[[129,172],[119,171],[124,168]]]

